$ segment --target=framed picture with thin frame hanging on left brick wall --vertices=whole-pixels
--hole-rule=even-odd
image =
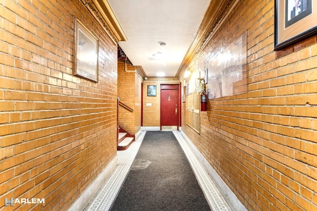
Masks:
[[[98,39],[75,18],[74,75],[98,82]]]

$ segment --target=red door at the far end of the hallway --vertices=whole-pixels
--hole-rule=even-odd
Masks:
[[[179,95],[178,84],[161,85],[160,91],[160,122],[162,128],[178,129]]]

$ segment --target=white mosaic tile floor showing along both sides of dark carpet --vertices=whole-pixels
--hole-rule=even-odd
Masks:
[[[141,146],[145,133],[146,131],[142,131],[139,138],[127,150],[117,152],[118,165],[116,169],[114,169],[103,186],[100,187],[85,211],[108,211],[111,208]],[[173,133],[183,148],[212,211],[231,211],[180,132],[174,130]]]

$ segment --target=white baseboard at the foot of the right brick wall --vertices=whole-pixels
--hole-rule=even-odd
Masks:
[[[199,162],[202,164],[203,168],[209,174],[212,182],[215,184],[220,194],[227,202],[229,207],[233,211],[247,211],[246,207],[240,202],[237,196],[231,191],[228,185],[221,179],[221,177],[217,174],[217,172],[211,167],[206,158],[201,154],[201,152],[196,148],[193,142],[187,137],[184,131],[180,131],[184,140],[187,142]]]

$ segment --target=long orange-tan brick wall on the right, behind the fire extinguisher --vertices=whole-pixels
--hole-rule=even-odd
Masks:
[[[245,30],[248,92],[209,100],[200,134],[183,103],[182,129],[248,210],[317,210],[317,37],[275,52],[274,0],[243,0],[192,65]]]

